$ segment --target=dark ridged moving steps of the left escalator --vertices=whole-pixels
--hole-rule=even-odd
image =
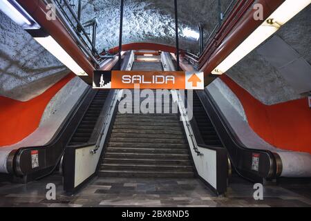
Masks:
[[[77,130],[71,137],[68,146],[75,146],[79,144],[85,144],[90,140],[95,124],[100,112],[105,104],[106,97],[109,94],[109,90],[98,90],[91,105],[88,107],[82,121],[80,122]]]

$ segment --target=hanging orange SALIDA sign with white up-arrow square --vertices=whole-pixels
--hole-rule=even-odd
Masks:
[[[96,89],[204,89],[202,72],[95,70],[93,88]]]

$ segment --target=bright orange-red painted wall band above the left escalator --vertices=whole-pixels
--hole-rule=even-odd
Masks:
[[[27,102],[0,96],[0,147],[16,144],[35,131],[50,99],[73,77],[73,73],[68,74]]]

